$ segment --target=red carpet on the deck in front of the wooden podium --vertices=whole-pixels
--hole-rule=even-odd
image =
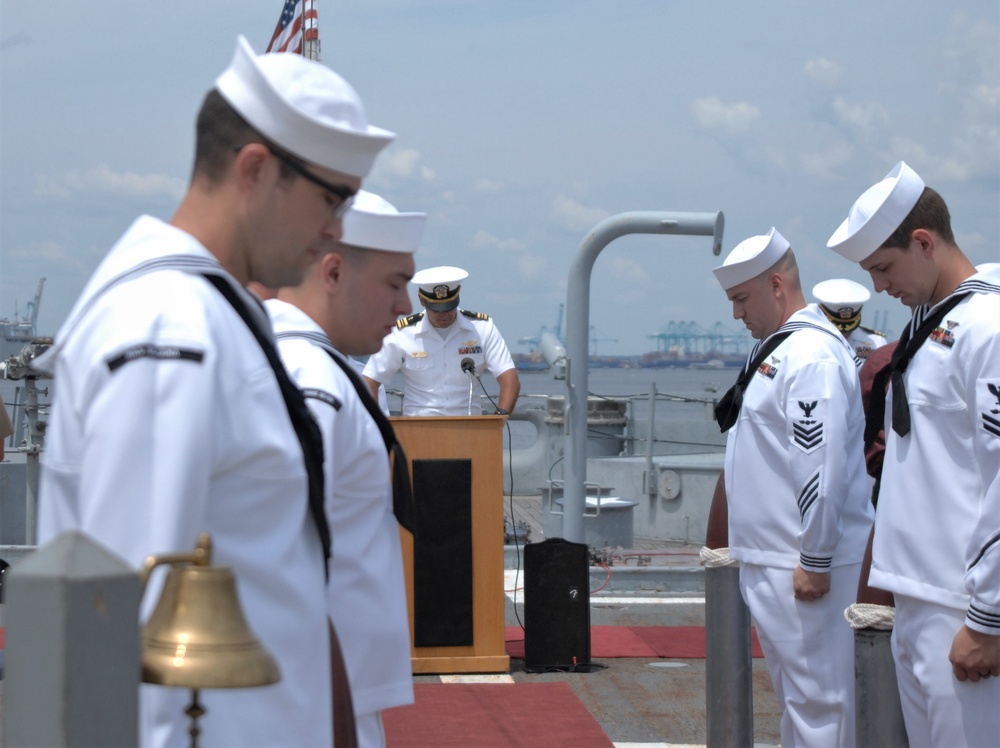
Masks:
[[[612,748],[567,683],[418,683],[382,713],[393,748]]]

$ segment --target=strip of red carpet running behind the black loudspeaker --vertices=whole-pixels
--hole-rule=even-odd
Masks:
[[[751,654],[763,657],[757,632],[751,630]],[[524,629],[507,626],[504,631],[507,654],[524,659]],[[678,660],[705,658],[704,626],[591,626],[590,656],[602,657],[669,657]]]

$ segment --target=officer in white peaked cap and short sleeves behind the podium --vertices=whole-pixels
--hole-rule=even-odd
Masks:
[[[521,389],[510,350],[489,315],[459,309],[469,274],[442,266],[413,276],[424,311],[399,320],[364,374],[373,391],[403,372],[404,416],[482,415],[479,376],[491,372],[500,386],[496,413],[514,409]]]

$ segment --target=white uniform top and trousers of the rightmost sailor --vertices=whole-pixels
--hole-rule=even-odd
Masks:
[[[954,294],[965,291],[973,293],[903,375],[909,434],[892,430],[886,406],[872,548],[871,584],[896,597],[904,710],[918,704],[907,725],[929,711],[931,745],[985,745],[983,731],[995,740],[1000,726],[1000,681],[961,683],[948,662],[962,623],[1000,636],[1000,266],[981,269]],[[932,311],[916,309],[911,324]]]

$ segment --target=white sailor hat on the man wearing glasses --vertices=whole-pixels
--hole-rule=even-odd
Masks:
[[[347,81],[301,55],[256,55],[236,40],[233,61],[215,87],[261,135],[317,166],[366,177],[395,134],[368,124]]]

